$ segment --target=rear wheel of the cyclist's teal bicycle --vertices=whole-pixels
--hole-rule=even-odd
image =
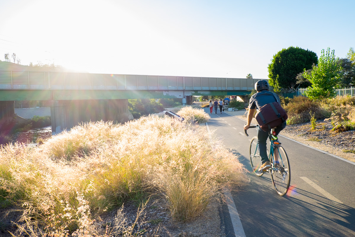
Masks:
[[[271,169],[271,180],[276,192],[283,196],[287,193],[290,187],[291,172],[290,163],[286,154],[285,149],[282,146],[276,146],[275,149],[279,151],[279,167],[274,167],[272,165]],[[273,157],[274,158],[274,157]]]

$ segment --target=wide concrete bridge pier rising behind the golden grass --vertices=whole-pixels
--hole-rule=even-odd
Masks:
[[[53,135],[82,122],[124,123],[133,119],[128,111],[128,99],[52,101],[50,114]]]

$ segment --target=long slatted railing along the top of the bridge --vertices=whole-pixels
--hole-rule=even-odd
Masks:
[[[0,70],[0,89],[252,90],[260,79]]]

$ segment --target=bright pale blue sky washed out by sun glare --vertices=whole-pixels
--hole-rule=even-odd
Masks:
[[[273,55],[290,46],[345,58],[354,9],[354,0],[0,0],[0,60],[267,79]]]

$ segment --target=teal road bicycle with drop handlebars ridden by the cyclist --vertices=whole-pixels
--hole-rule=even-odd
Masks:
[[[259,125],[250,126],[249,128],[257,128],[258,126]],[[244,130],[244,133],[249,136],[246,130]],[[250,141],[249,157],[251,167],[253,168],[253,171],[257,176],[262,176],[264,173],[270,171],[271,181],[274,185],[276,192],[280,196],[283,196],[287,193],[290,187],[291,180],[290,163],[286,151],[281,146],[281,142],[278,141],[274,129],[271,129],[271,131],[269,131],[270,150],[268,150],[268,157],[270,160],[271,168],[266,171],[259,171],[259,167],[261,166],[261,157],[258,151],[257,140],[258,138],[257,136],[255,136]],[[278,159],[276,159],[278,162],[274,158],[275,149],[277,149],[279,153]]]

